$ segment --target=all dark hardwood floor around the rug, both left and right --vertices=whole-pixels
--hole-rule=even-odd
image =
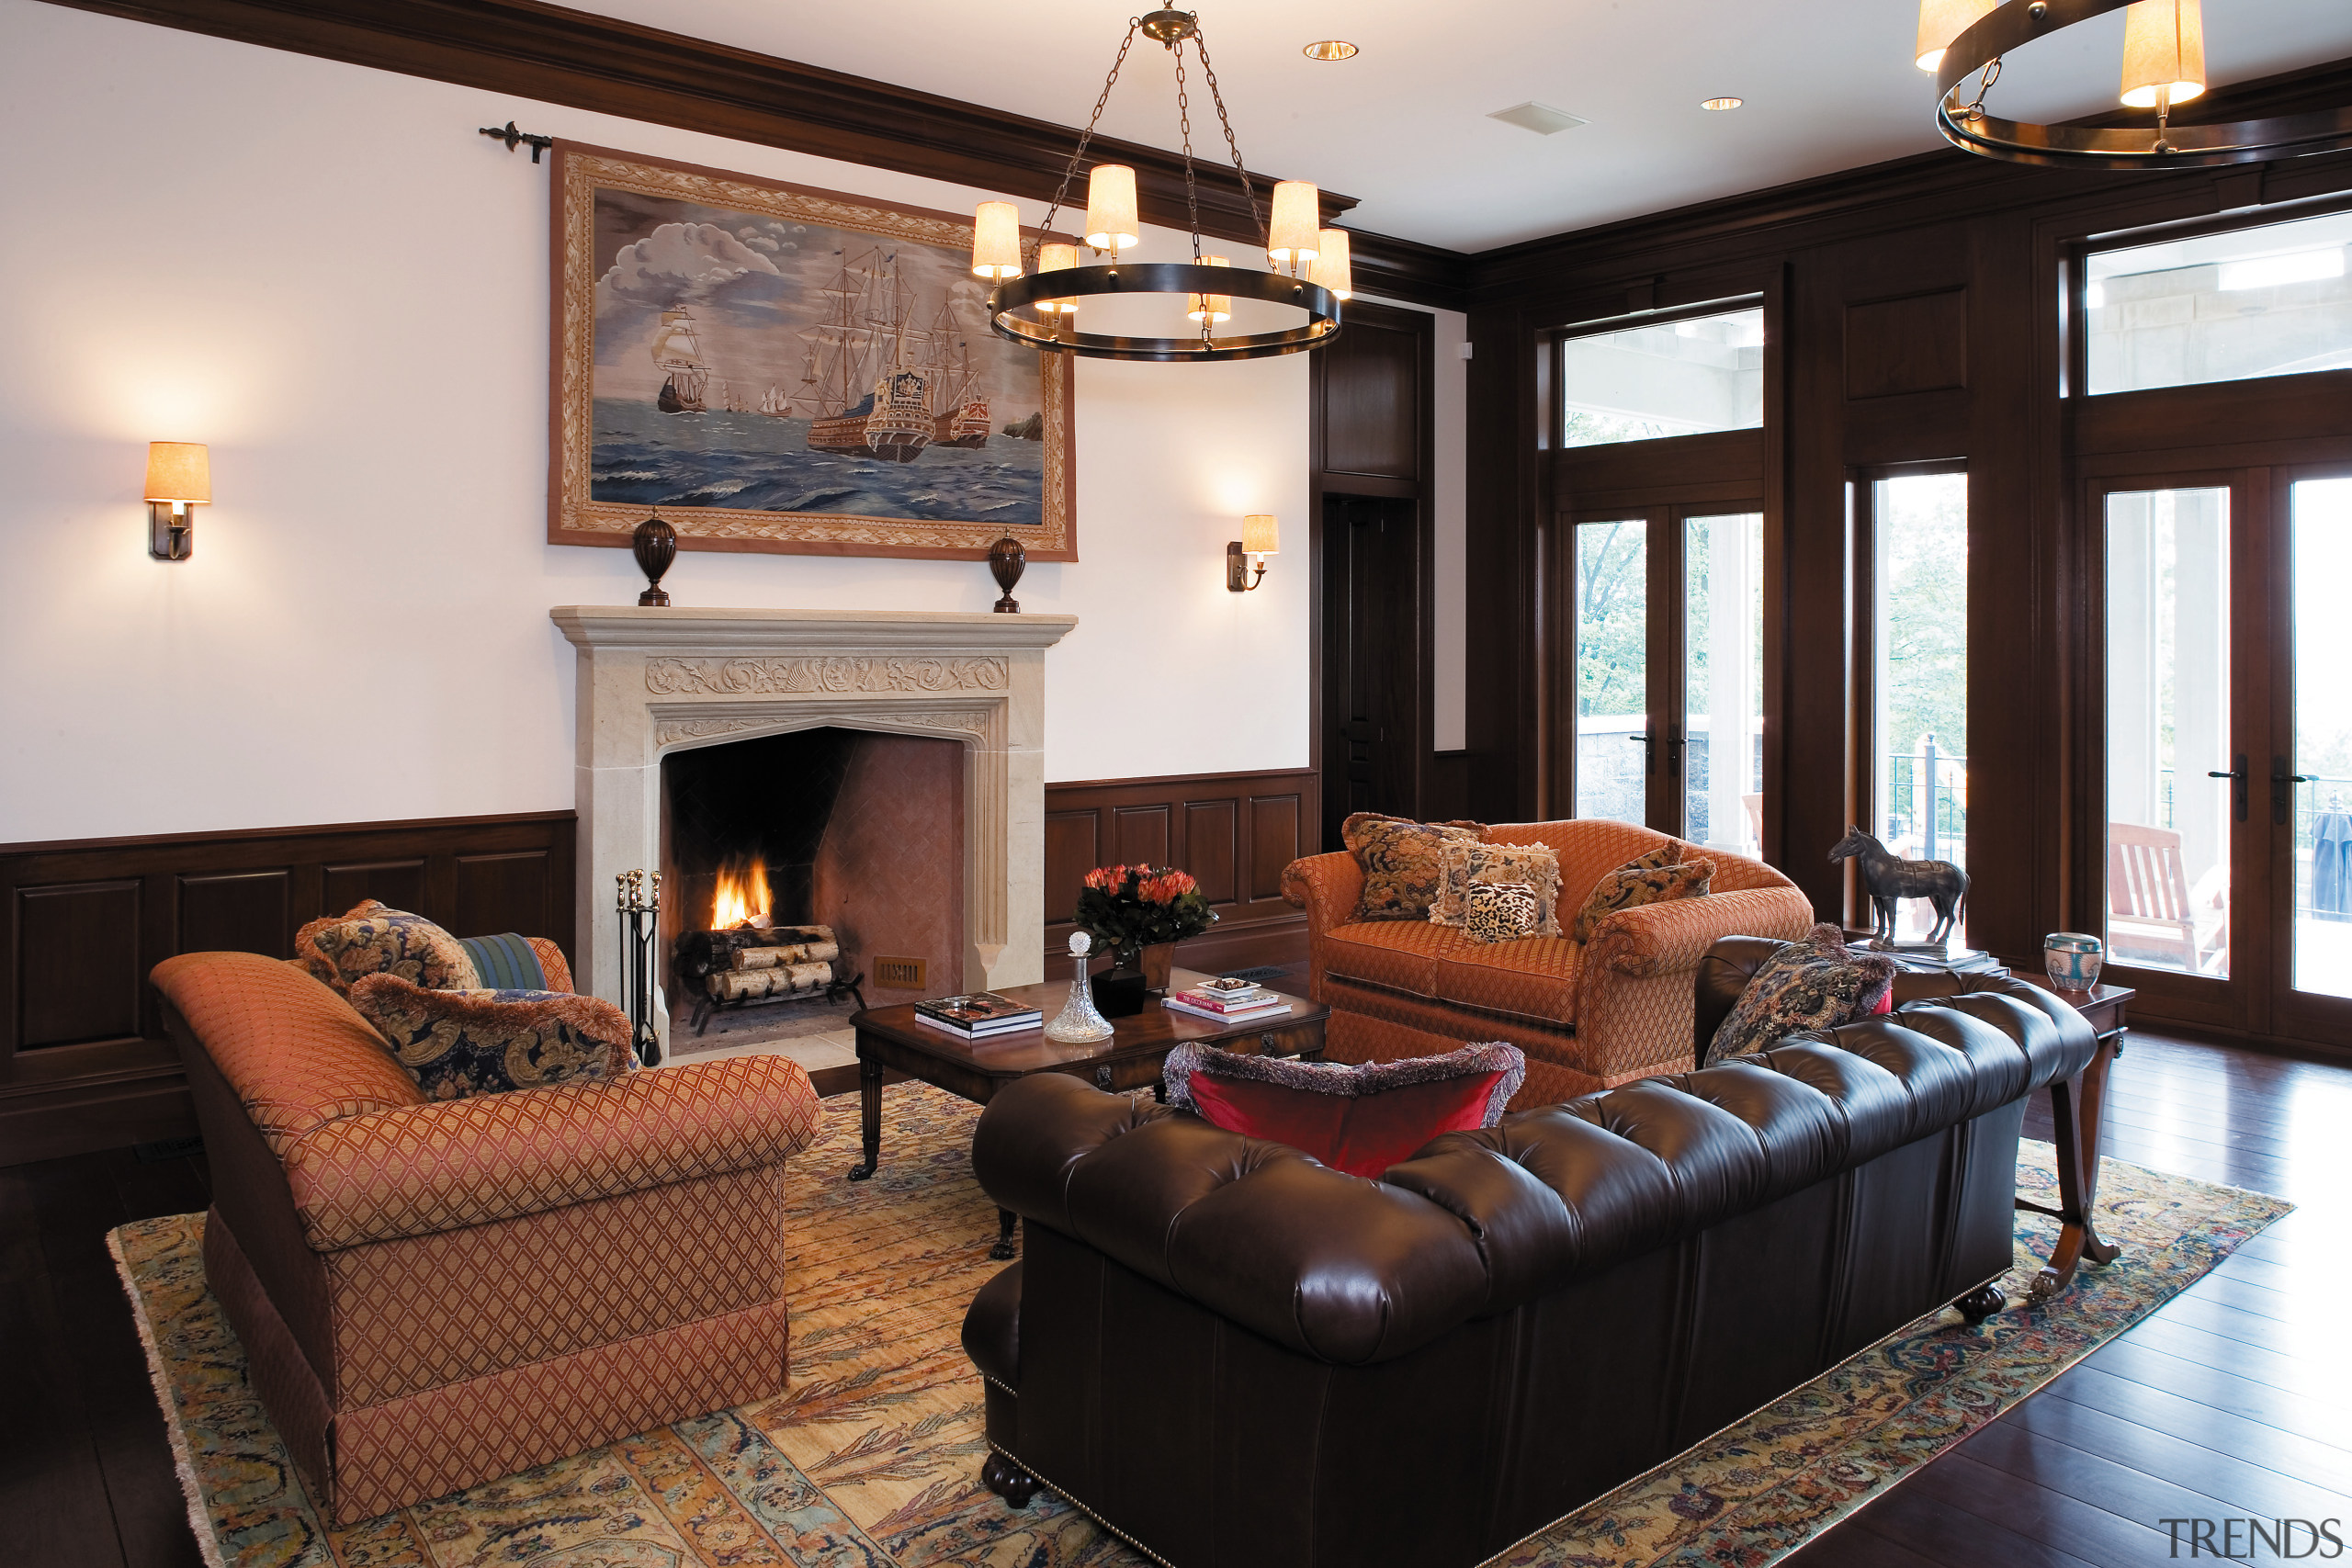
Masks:
[[[2352,1067],[2136,1032],[2107,1117],[2117,1159],[2300,1208],[1792,1568],[2187,1561],[2164,1519],[2216,1521],[2216,1547],[2249,1516],[2352,1540]],[[2046,1107],[2025,1131],[2049,1138]],[[106,1232],[205,1204],[202,1157],[0,1168],[0,1566],[200,1563]]]

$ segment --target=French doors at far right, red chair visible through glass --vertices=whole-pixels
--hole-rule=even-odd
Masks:
[[[2352,1041],[2352,463],[2089,501],[2107,961],[2166,1018]]]

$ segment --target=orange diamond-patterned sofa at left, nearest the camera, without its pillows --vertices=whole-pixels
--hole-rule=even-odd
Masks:
[[[205,1276],[332,1523],[783,1389],[795,1063],[428,1103],[292,964],[153,980],[212,1164]]]

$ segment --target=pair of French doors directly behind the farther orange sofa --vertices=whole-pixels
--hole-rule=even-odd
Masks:
[[[1550,550],[1555,816],[1759,853],[1764,515],[1755,503],[1569,515]]]

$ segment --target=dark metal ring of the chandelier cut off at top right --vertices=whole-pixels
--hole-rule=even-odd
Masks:
[[[1966,153],[2056,169],[2192,169],[2352,148],[2352,108],[2270,120],[2171,125],[2171,101],[2157,99],[2154,132],[2147,127],[2034,125],[2002,120],[1985,110],[1985,89],[1999,78],[2002,56],[2011,49],[2131,2],[2006,0],[1994,5],[1950,40],[1936,68],[1936,89],[1943,94],[1936,103],[1936,129]],[[1976,99],[1969,101],[1962,94],[1962,82],[1978,71],[1985,73],[1985,80],[1978,85]]]

